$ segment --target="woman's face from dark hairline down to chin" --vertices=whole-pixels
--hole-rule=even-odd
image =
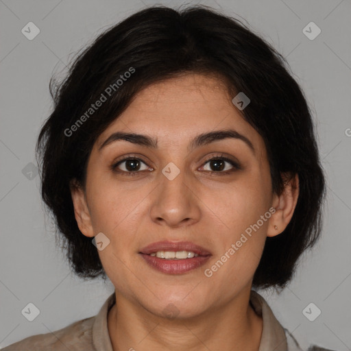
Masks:
[[[244,121],[232,98],[218,80],[197,74],[148,86],[99,136],[88,160],[85,195],[74,198],[84,235],[104,234],[99,256],[117,292],[156,315],[169,304],[182,317],[199,315],[250,291],[275,224],[267,215],[277,203],[263,138]],[[218,130],[234,130],[252,147],[232,137],[192,144],[200,134]],[[116,132],[143,134],[157,146],[132,139],[104,144]],[[134,160],[122,161],[126,157]],[[250,226],[255,228],[251,236]],[[158,241],[191,242],[210,256],[201,266],[182,271],[190,262],[185,260],[199,259],[167,265],[150,255],[161,271],[141,254]]]

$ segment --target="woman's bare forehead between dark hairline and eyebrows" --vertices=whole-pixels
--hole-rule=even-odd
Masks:
[[[162,147],[189,143],[212,130],[234,129],[261,149],[265,146],[261,136],[243,119],[232,98],[221,80],[197,73],[151,84],[99,136],[97,146],[117,131],[147,134]]]

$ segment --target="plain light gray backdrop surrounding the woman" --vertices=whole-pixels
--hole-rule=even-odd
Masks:
[[[30,169],[23,169],[35,162],[36,137],[51,111],[48,84],[53,71],[65,69],[71,54],[102,30],[155,3],[0,0],[0,347],[95,315],[114,290],[110,282],[84,282],[70,274],[43,211],[39,177],[32,173],[34,178],[28,179]],[[177,7],[184,1],[158,3]],[[280,295],[259,292],[302,348],[317,343],[351,350],[350,1],[187,3],[243,17],[287,58],[306,93],[328,174],[324,230],[313,251],[304,255],[289,288]],[[40,29],[34,40],[21,33],[29,21]],[[302,32],[311,21],[322,29],[314,40]],[[40,309],[33,322],[21,314],[29,302]],[[310,302],[322,311],[314,322],[302,314]]]

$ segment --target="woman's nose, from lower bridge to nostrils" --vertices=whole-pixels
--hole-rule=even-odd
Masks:
[[[199,198],[190,177],[184,171],[173,179],[165,174],[160,173],[159,184],[152,193],[152,220],[171,228],[189,226],[199,221]]]

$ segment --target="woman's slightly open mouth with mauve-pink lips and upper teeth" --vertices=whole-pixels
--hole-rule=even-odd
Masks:
[[[159,241],[144,247],[139,254],[152,268],[166,274],[183,274],[198,268],[212,256],[199,245],[189,241]]]

